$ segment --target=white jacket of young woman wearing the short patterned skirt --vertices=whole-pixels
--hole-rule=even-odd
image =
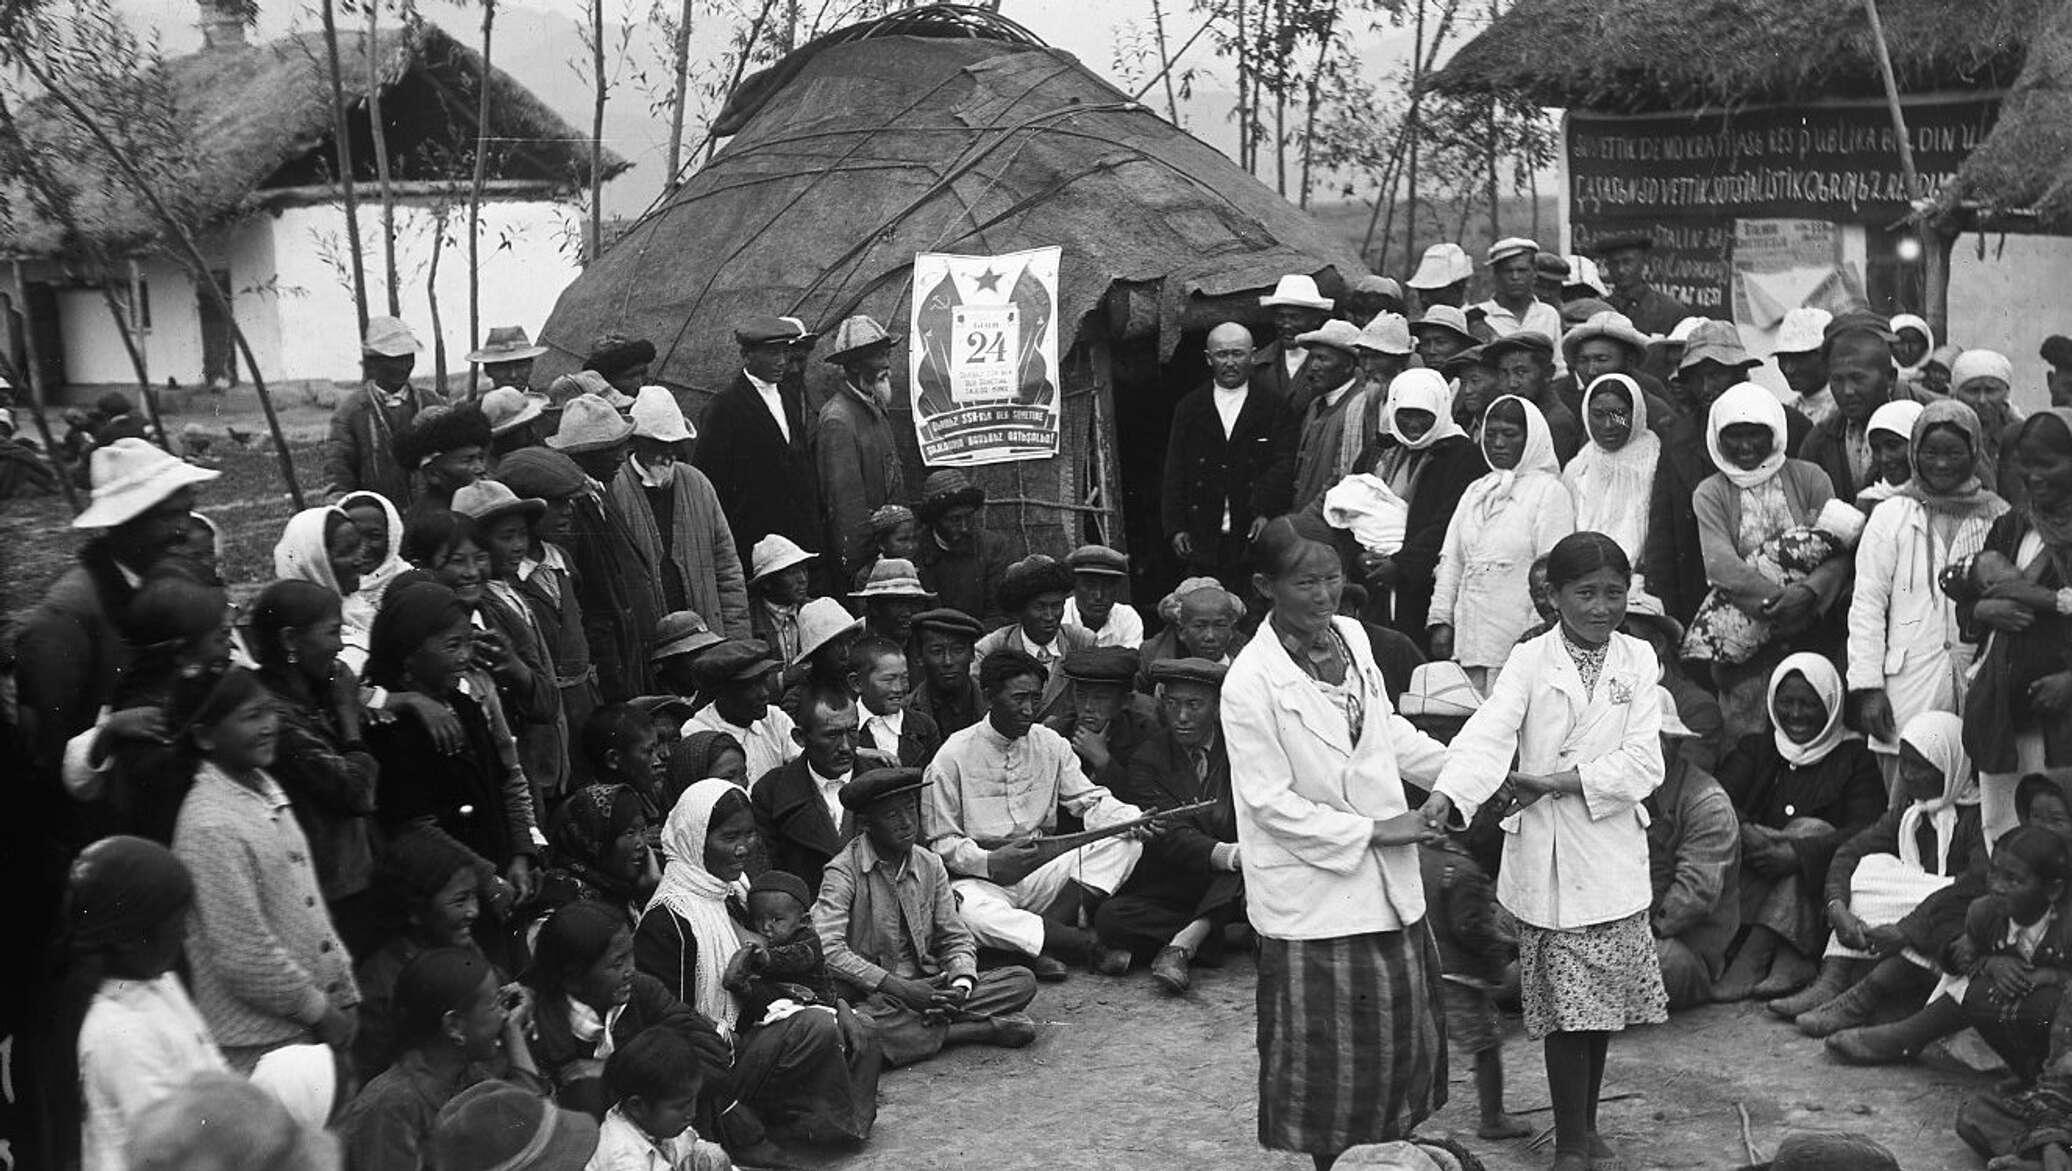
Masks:
[[[1598,692],[1550,630],[1519,647],[1490,698],[1452,738],[1436,792],[1461,817],[1521,773],[1575,769],[1583,794],[1544,796],[1506,817],[1496,899],[1533,926],[1569,931],[1647,910],[1647,810],[1662,783],[1662,690],[1653,649],[1612,634]],[[1249,893],[1249,887],[1247,887]]]

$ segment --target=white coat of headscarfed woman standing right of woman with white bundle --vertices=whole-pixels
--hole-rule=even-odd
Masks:
[[[1523,473],[1510,502],[1484,520],[1490,473],[1467,487],[1432,576],[1428,626],[1452,626],[1452,657],[1463,667],[1502,667],[1510,647],[1539,616],[1527,587],[1533,562],[1575,533],[1575,497],[1560,477]]]

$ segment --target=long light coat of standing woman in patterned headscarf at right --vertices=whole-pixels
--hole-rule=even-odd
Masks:
[[[1956,711],[1973,647],[1937,574],[1985,545],[1993,526],[1964,518],[1941,547],[1919,499],[1894,495],[1871,510],[1857,543],[1857,595],[1848,607],[1848,690],[1883,688],[1894,727],[1923,711]],[[1873,744],[1898,752],[1898,744]]]

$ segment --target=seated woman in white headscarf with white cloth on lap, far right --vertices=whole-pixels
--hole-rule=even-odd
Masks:
[[[1844,841],[1828,868],[1830,964],[1807,995],[1840,989],[1796,1018],[1807,1036],[1919,1009],[1935,987],[1935,960],[1910,951],[1898,922],[1985,858],[1979,777],[1956,713],[1906,721],[1898,786],[1898,804]]]

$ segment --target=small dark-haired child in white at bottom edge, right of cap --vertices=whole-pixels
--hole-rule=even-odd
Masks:
[[[651,1028],[613,1049],[605,1090],[613,1107],[597,1127],[597,1154],[584,1171],[733,1171],[725,1148],[690,1125],[704,1076],[684,1034]]]

